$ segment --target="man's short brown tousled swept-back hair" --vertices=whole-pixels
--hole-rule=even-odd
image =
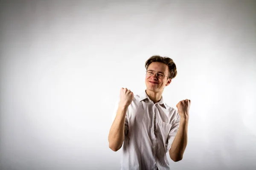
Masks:
[[[148,66],[152,62],[162,62],[162,63],[168,65],[168,68],[169,68],[168,78],[169,79],[173,79],[174,77],[176,77],[176,75],[177,75],[176,65],[175,65],[175,63],[173,62],[173,60],[171,58],[169,58],[169,57],[161,57],[159,55],[154,55],[154,56],[150,57],[145,62],[145,68],[148,69]]]

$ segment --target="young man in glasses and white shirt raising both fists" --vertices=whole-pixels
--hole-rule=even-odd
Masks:
[[[166,153],[180,161],[187,144],[190,100],[176,107],[163,102],[163,91],[177,75],[176,65],[168,57],[152,56],[146,63],[146,90],[134,96],[120,90],[116,116],[109,131],[113,151],[123,145],[122,170],[169,170]]]

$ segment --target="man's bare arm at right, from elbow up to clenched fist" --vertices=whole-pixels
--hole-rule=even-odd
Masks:
[[[180,114],[180,127],[177,131],[175,139],[172,142],[172,147],[169,150],[170,158],[177,162],[183,158],[183,153],[185,152],[186,145],[188,142],[188,124],[189,124],[189,107],[190,100],[180,101],[176,107]]]

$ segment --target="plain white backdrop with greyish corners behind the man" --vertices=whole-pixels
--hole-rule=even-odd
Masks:
[[[177,65],[165,102],[192,101],[171,169],[255,169],[255,0],[1,0],[0,170],[119,169],[114,103],[154,54]]]

